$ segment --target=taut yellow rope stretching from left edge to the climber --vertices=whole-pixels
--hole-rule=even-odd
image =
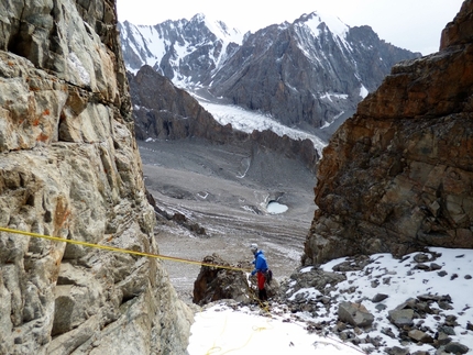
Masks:
[[[123,253],[123,254],[131,254],[131,255],[138,255],[138,256],[154,257],[154,258],[160,258],[163,260],[172,260],[172,262],[194,264],[194,265],[200,265],[200,266],[210,266],[210,267],[216,267],[216,268],[244,271],[244,273],[251,271],[251,269],[245,269],[245,268],[241,268],[241,267],[233,267],[233,266],[228,266],[228,265],[218,265],[218,264],[211,264],[211,263],[201,263],[201,262],[185,259],[185,258],[180,258],[180,257],[165,256],[165,255],[145,253],[145,252],[129,251],[129,249],[109,246],[109,245],[94,244],[94,243],[87,243],[87,242],[80,242],[80,241],[74,241],[74,240],[65,240],[65,238],[62,238],[58,236],[51,236],[51,235],[43,235],[43,234],[38,234],[38,233],[18,231],[18,230],[12,230],[12,229],[2,228],[2,226],[0,226],[0,232],[29,235],[29,236],[33,236],[33,237],[41,237],[41,238],[45,238],[45,240],[50,240],[50,241],[54,241],[54,242],[64,242],[64,243],[69,243],[69,244],[82,245],[82,246],[95,247],[95,248],[105,249],[105,251],[114,252],[114,253]]]

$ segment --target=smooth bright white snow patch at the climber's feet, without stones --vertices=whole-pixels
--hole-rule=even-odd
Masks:
[[[190,355],[201,354],[360,354],[337,339],[308,334],[304,322],[287,321],[278,311],[215,306],[196,315]]]

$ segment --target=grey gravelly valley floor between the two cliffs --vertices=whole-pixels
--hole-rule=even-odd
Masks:
[[[198,140],[140,142],[148,191],[168,213],[179,212],[205,228],[197,235],[162,221],[156,240],[163,255],[202,260],[219,254],[229,263],[252,260],[250,244],[265,252],[277,279],[299,265],[310,228],[315,174],[300,162],[241,145],[210,145]],[[270,214],[270,200],[288,207]],[[191,301],[199,266],[164,262],[170,280]]]

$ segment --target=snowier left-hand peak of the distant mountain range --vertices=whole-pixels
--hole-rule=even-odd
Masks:
[[[147,64],[179,86],[207,81],[243,42],[243,35],[221,21],[196,14],[190,21],[166,21],[154,26],[119,24],[127,69]]]

